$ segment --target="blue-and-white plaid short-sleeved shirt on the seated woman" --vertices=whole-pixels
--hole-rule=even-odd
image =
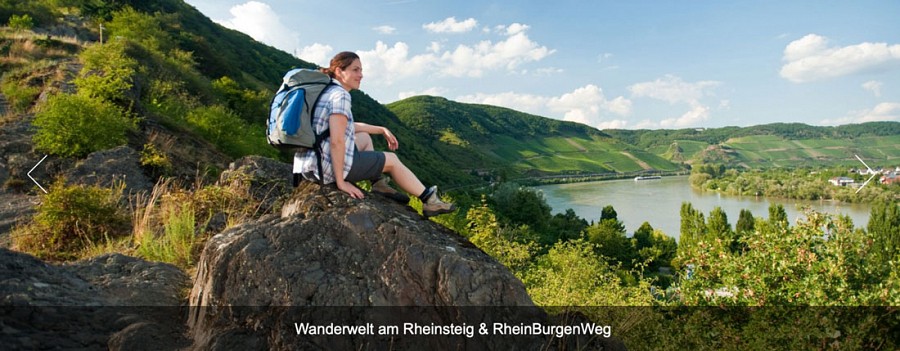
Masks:
[[[353,150],[356,145],[356,130],[353,127],[353,113],[350,111],[350,93],[341,87],[340,83],[332,79],[337,85],[329,86],[322,92],[319,102],[316,104],[313,115],[313,126],[316,133],[323,133],[328,129],[328,120],[333,114],[347,116],[347,129],[344,130],[344,172],[341,178],[350,173],[350,167],[353,166]],[[331,137],[324,135],[322,140],[322,172],[325,184],[335,182],[334,165],[331,162],[331,147],[329,141]],[[300,173],[304,178],[318,181],[319,170],[316,164],[316,153],[312,149],[303,150],[294,154],[294,173]]]

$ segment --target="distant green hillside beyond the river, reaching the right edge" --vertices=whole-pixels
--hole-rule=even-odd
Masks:
[[[837,127],[774,123],[752,127],[607,130],[609,135],[675,162],[744,168],[900,163],[900,122]]]

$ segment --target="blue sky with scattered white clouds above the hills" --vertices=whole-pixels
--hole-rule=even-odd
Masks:
[[[188,0],[361,89],[600,129],[900,121],[900,1]],[[285,68],[287,69],[287,68]]]

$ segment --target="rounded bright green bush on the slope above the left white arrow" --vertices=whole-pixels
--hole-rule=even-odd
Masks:
[[[136,123],[112,103],[82,95],[50,97],[35,115],[36,147],[49,154],[83,157],[126,142]]]

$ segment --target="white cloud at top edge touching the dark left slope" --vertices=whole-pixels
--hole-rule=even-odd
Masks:
[[[291,52],[299,46],[300,35],[281,22],[278,13],[266,3],[249,1],[235,5],[229,11],[231,18],[217,23],[243,32],[256,41]]]

